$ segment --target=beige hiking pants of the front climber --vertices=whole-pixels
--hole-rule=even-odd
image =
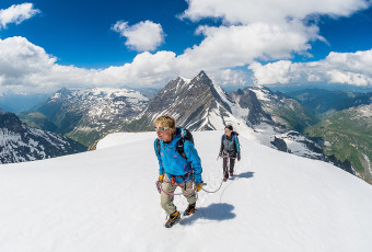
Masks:
[[[193,183],[194,183],[194,179],[189,180],[187,183],[182,183],[181,184],[182,186],[179,186],[183,193],[191,191],[188,194],[184,194],[184,196],[187,198],[188,204],[196,203],[196,194],[193,188]],[[186,184],[186,187],[185,187],[185,184]],[[167,177],[166,174],[164,174],[162,186],[163,186],[163,191],[165,191],[168,194],[174,194],[174,191],[176,191],[177,188],[177,185],[172,184],[170,177]],[[164,193],[163,191],[160,195],[161,206],[166,211],[166,214],[172,215],[173,213],[177,210],[176,206],[173,204],[174,196],[168,195]]]

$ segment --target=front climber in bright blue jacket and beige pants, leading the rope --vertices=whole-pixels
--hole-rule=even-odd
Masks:
[[[165,227],[171,228],[181,219],[179,211],[173,204],[177,186],[182,188],[188,202],[184,215],[195,213],[195,191],[199,192],[202,187],[201,160],[194,142],[186,137],[187,130],[176,128],[173,117],[160,116],[154,124],[158,135],[154,150],[159,161],[159,181],[162,183],[161,206],[170,215]]]

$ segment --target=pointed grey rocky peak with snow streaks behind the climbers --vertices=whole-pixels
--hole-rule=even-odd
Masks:
[[[230,98],[204,72],[186,82],[183,78],[170,81],[138,117],[136,128],[147,129],[155,117],[168,114],[179,126],[191,130],[222,129],[232,116]],[[244,123],[242,122],[242,125]]]

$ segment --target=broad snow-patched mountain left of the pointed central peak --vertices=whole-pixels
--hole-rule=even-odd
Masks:
[[[28,124],[39,124],[35,115],[37,118],[45,115],[49,129],[55,125],[56,133],[88,147],[107,131],[120,129],[141,113],[148,102],[140,92],[127,89],[62,89],[38,104],[34,112],[22,114],[22,118]]]

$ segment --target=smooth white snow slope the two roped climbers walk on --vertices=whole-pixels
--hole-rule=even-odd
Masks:
[[[194,133],[209,191],[222,180],[221,135]],[[154,139],[118,133],[95,151],[0,165],[0,251],[372,251],[371,185],[244,134],[236,176],[164,228]]]

